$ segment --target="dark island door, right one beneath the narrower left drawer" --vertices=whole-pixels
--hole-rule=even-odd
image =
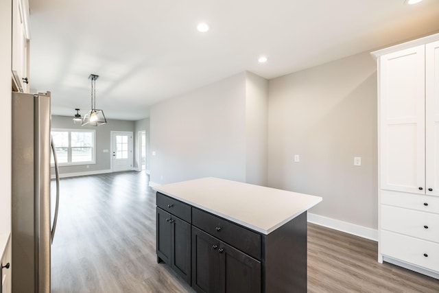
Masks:
[[[191,225],[171,216],[171,267],[191,283]]]

